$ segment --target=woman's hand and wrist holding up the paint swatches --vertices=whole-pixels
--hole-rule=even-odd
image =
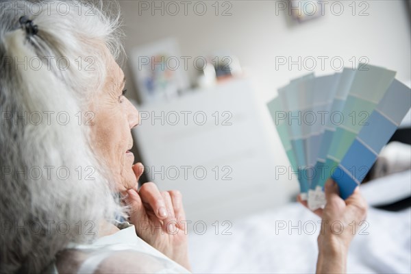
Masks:
[[[366,218],[366,201],[358,187],[349,198],[341,199],[332,179],[325,184],[325,199],[325,208],[314,211],[322,219],[317,273],[345,273],[349,244]],[[308,207],[306,201],[298,200]]]

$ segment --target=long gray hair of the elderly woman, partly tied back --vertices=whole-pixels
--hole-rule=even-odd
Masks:
[[[124,208],[90,142],[90,100],[118,58],[113,1],[1,1],[0,272],[38,273]],[[38,26],[29,35],[19,18]]]

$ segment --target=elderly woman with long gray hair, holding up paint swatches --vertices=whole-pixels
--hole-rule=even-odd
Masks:
[[[117,8],[1,2],[1,273],[190,270],[181,195],[137,188]],[[344,272],[353,234],[329,223],[358,224],[366,206],[325,190],[317,269]]]

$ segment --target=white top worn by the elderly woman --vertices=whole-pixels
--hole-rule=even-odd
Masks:
[[[128,222],[116,225],[121,229],[119,232],[103,236],[90,245],[68,245],[67,249],[87,254],[77,273],[95,273],[103,262],[110,262],[110,269],[117,269],[115,264],[118,263],[116,272],[122,273],[190,273],[139,238],[134,225]],[[49,266],[47,273],[58,273],[54,263]]]

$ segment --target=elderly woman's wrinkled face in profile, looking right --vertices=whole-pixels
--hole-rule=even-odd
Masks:
[[[138,124],[138,111],[123,95],[125,78],[119,65],[107,53],[107,78],[104,88],[92,101],[95,114],[92,125],[93,149],[108,163],[114,174],[116,190],[124,191],[137,184],[132,171],[134,155],[129,150],[133,146],[131,130]]]

